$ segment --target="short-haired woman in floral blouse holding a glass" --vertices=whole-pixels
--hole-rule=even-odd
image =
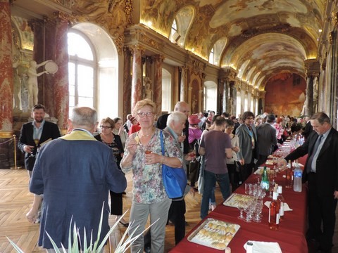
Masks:
[[[162,164],[182,167],[182,155],[173,137],[163,131],[165,155],[161,155],[160,130],[154,127],[156,104],[144,99],[134,107],[133,115],[141,129],[129,136],[125,143],[125,155],[121,161],[124,172],[132,171],[133,200],[130,212],[134,235],[142,234],[150,214],[151,252],[164,251],[165,224],[171,200],[165,193],[162,180]],[[137,226],[139,226],[137,228]],[[143,252],[144,238],[141,235],[132,244],[133,252]]]

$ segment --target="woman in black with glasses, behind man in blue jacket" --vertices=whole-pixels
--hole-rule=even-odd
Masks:
[[[95,136],[97,141],[101,141],[102,143],[108,145],[109,148],[113,151],[113,155],[115,156],[115,162],[118,165],[118,169],[121,169],[120,162],[123,157],[123,145],[121,142],[120,136],[117,134],[113,134],[113,128],[115,126],[115,122],[110,117],[106,117],[101,120],[101,134]],[[123,214],[123,193],[111,193],[111,214],[116,215],[116,220],[120,219],[120,216]],[[125,219],[121,219],[120,223],[127,227],[129,223],[125,221]]]

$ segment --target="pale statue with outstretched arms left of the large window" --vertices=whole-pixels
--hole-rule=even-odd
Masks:
[[[39,93],[39,89],[37,86],[37,77],[41,76],[42,74],[49,74],[49,72],[47,72],[46,70],[37,73],[37,69],[51,61],[52,60],[46,60],[43,63],[39,64],[37,64],[35,60],[30,61],[30,67],[27,70],[27,89],[29,94],[30,108],[37,104],[37,94]]]

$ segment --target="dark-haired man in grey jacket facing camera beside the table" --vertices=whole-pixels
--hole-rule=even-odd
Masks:
[[[254,117],[253,112],[244,112],[242,116],[244,123],[236,129],[240,148],[237,157],[242,165],[242,182],[246,181],[251,175],[252,169],[255,166],[254,160],[258,159],[257,131],[253,124]]]

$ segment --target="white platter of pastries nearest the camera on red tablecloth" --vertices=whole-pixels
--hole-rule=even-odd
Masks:
[[[239,228],[238,224],[208,218],[188,236],[188,240],[213,249],[225,250]]]

